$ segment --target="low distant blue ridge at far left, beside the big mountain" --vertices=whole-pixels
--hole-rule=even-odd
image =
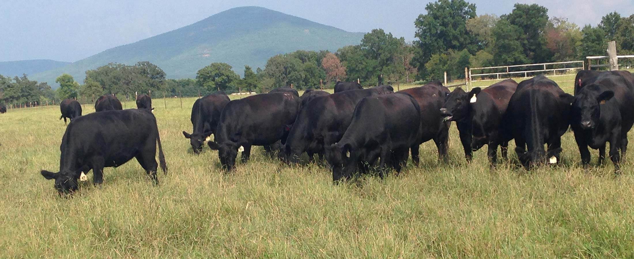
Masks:
[[[55,60],[2,61],[0,62],[0,75],[4,75],[4,77],[15,77],[16,75],[21,77],[23,73],[33,75],[68,64],[70,62]],[[55,79],[53,79],[53,82],[55,82]]]

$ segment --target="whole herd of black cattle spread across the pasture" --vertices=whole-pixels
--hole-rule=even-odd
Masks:
[[[104,167],[136,158],[158,183],[157,144],[164,172],[167,165],[152,100],[140,95],[136,104],[138,109],[122,110],[117,98],[105,95],[94,104],[97,112],[81,116],[77,101],[63,101],[60,119],[72,122],[61,140],[60,171],[41,174],[55,179],[60,193],[68,193],[89,170],[94,184],[101,184]],[[207,141],[225,170],[235,167],[238,152],[246,162],[252,146],[264,146],[288,164],[299,163],[303,153],[309,161],[315,154],[320,161],[325,158],[333,181],[339,182],[371,171],[380,177],[392,168],[398,173],[410,150],[418,165],[418,146],[430,140],[436,143],[439,159],[448,160],[451,121],[456,122],[467,160],[487,144],[491,167],[497,163],[498,146],[507,158],[511,140],[526,168],[560,163],[561,136],[570,127],[584,167],[590,163],[588,146],[599,149],[603,163],[609,142],[609,157],[619,173],[633,111],[634,76],[626,71],[582,70],[574,80],[574,96],[543,75],[519,84],[507,79],[469,92],[450,92],[440,82],[398,92],[390,85],[363,89],[357,82],[337,82],[334,94],[308,90],[299,96],[288,87],[234,101],[223,92],[210,94],[193,104],[193,132],[183,135],[197,154]]]

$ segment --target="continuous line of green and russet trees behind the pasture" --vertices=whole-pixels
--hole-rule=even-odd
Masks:
[[[215,91],[268,92],[276,87],[330,88],[335,82],[359,80],[362,85],[397,84],[413,80],[463,79],[465,67],[518,65],[583,60],[603,55],[608,41],[619,54],[634,53],[634,15],[608,13],[597,26],[583,28],[562,17],[549,17],[538,4],[515,4],[501,16],[477,15],[465,0],[437,0],[414,21],[413,42],[377,28],[361,43],[336,52],[295,51],[269,58],[264,68],[245,66],[240,77],[226,63],[211,63],[195,79],[166,79],[148,61],[135,65],[110,63],[86,71],[83,84],[63,74],[53,91],[44,83],[0,75],[0,103],[44,103],[67,98],[93,102],[102,94],[130,98],[149,91],[167,96],[202,96]]]

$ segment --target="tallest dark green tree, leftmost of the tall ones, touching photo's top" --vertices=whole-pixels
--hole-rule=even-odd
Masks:
[[[418,76],[425,75],[425,63],[432,54],[455,49],[477,51],[477,40],[467,30],[467,20],[475,18],[475,4],[464,0],[437,0],[425,6],[427,15],[419,15],[415,20],[415,42],[418,46],[414,61],[418,66]]]

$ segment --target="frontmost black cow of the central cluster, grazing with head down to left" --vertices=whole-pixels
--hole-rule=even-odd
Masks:
[[[363,98],[344,136],[326,148],[332,180],[350,179],[358,170],[365,174],[378,158],[381,178],[389,167],[401,172],[408,151],[419,142],[420,123],[420,107],[410,94]]]

